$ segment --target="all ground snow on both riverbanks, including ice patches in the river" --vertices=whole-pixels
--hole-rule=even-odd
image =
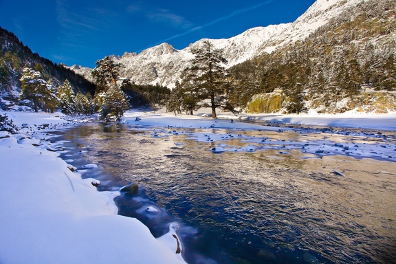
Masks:
[[[303,153],[301,158],[322,155],[351,155],[396,162],[395,140],[366,140],[396,131],[396,114],[274,115],[219,113],[208,118],[205,109],[195,115],[175,115],[165,111],[127,111],[124,124],[153,131],[155,140],[183,136],[208,142],[216,155],[223,152],[265,151],[279,154]],[[3,114],[3,112],[2,112]],[[155,239],[137,219],[117,214],[113,198],[118,190],[98,192],[96,179],[82,179],[86,164],[76,170],[58,157],[62,142],[51,144],[48,131],[74,125],[62,113],[8,112],[21,131],[17,135],[0,132],[0,263],[184,263],[178,223],[169,223],[169,232]],[[135,121],[136,118],[140,120]],[[241,122],[261,120],[274,126]],[[319,130],[292,128],[290,124],[320,126]],[[287,127],[289,126],[289,127]],[[362,129],[338,135],[333,126]],[[190,128],[196,128],[192,131]],[[325,130],[325,131],[320,131]],[[249,135],[247,131],[300,133],[307,140],[281,140],[279,137]],[[335,136],[333,136],[335,135]],[[311,136],[316,136],[314,139]],[[352,138],[352,139],[351,139]],[[235,140],[241,142],[234,145]],[[382,141],[379,141],[382,140]],[[214,145],[212,144],[214,143]],[[175,140],[175,144],[178,143]],[[335,172],[337,173],[337,172]],[[140,208],[148,216],[161,214],[156,206]],[[176,253],[181,252],[181,254]]]

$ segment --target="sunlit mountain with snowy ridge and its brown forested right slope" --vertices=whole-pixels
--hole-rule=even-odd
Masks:
[[[121,78],[173,88],[191,50],[210,41],[232,76],[230,104],[254,113],[396,111],[396,2],[317,0],[293,23],[257,27],[230,39],[168,43],[110,56]],[[91,78],[91,69],[76,69]],[[78,67],[77,67],[78,68]],[[84,71],[84,72],[83,72]]]

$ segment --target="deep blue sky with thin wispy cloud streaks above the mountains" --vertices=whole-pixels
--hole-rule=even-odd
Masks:
[[[95,67],[104,56],[159,43],[178,50],[249,28],[295,21],[314,0],[0,0],[0,26],[33,52]]]

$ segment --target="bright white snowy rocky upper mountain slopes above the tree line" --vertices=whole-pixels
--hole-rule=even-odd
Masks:
[[[304,40],[331,18],[361,1],[363,0],[317,0],[294,23],[251,28],[230,39],[209,41],[217,49],[223,49],[223,55],[228,60],[226,67],[231,67],[263,52],[271,53],[278,47]],[[162,43],[140,54],[125,52],[122,56],[111,57],[124,66],[120,69],[122,78],[130,78],[137,84],[158,83],[172,88],[183,69],[190,63],[191,48],[206,40],[208,39],[201,39],[183,50],[175,50],[168,43]],[[71,69],[91,78],[90,71],[85,67],[74,65]]]

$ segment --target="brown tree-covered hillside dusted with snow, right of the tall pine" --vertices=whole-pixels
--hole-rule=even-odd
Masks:
[[[361,2],[304,41],[232,67],[233,103],[253,112],[396,111],[395,5]]]

